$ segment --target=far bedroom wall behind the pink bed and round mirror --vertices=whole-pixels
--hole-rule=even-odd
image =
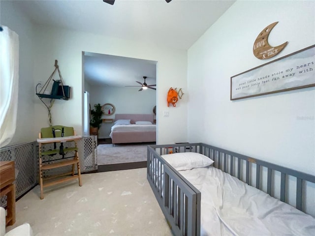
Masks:
[[[156,91],[147,89],[138,91],[140,88],[121,87],[97,87],[92,86],[90,92],[90,104],[111,103],[115,107],[115,114],[103,116],[103,118],[115,119],[116,114],[153,114],[153,107],[156,105]],[[113,123],[102,123],[98,136],[108,138]]]

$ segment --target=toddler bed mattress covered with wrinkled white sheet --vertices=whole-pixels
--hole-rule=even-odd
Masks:
[[[315,218],[217,168],[180,173],[201,192],[201,235],[315,235]]]

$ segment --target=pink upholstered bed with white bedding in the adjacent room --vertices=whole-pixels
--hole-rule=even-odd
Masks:
[[[110,138],[113,144],[156,142],[157,128],[150,114],[116,114]]]

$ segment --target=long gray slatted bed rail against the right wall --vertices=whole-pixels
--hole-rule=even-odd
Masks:
[[[282,202],[288,203],[293,207],[306,212],[306,209],[303,208],[302,204],[304,201],[303,194],[305,193],[302,183],[305,181],[315,183],[315,176],[206,144],[199,145],[199,153],[213,159],[215,161],[214,167],[221,169],[223,172],[226,172],[231,176],[237,177],[243,182],[246,182],[259,190],[264,191],[262,183],[266,183],[267,189],[264,192],[267,192],[270,196],[278,198]],[[263,168],[267,169],[266,178],[261,177],[263,175]],[[252,175],[253,170],[255,173]],[[276,172],[279,172],[281,175],[280,181],[276,181]],[[243,174],[245,174],[245,178],[243,177]],[[295,204],[289,203],[286,199],[286,196],[288,196],[288,177],[296,178]],[[277,189],[277,187],[278,189],[280,187],[280,197],[276,196],[275,189]]]

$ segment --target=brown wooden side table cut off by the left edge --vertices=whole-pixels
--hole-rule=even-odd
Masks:
[[[15,169],[14,161],[0,161],[0,197],[7,196],[5,225],[15,223]]]

